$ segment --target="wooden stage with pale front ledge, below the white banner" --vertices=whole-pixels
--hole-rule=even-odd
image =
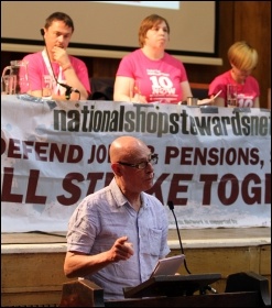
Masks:
[[[228,275],[252,271],[269,279],[271,290],[271,228],[179,230],[192,274],[220,273],[215,283],[225,290]],[[176,230],[170,230],[171,254],[179,254]],[[1,234],[1,306],[58,306],[66,252],[65,233]],[[185,267],[181,274],[187,274]]]

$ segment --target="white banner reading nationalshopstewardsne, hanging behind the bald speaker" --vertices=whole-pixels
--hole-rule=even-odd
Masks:
[[[2,232],[66,231],[80,200],[112,178],[120,135],[159,154],[154,186],[175,228],[271,227],[266,109],[1,97]]]

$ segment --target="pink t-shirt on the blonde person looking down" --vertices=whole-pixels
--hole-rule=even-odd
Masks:
[[[260,97],[259,84],[254,77],[248,76],[244,85],[237,84],[228,70],[217,76],[209,85],[209,96],[216,95],[219,90],[221,94],[219,97],[225,99],[225,107],[227,107],[227,85],[237,85],[237,99],[239,107],[254,107],[254,99]]]

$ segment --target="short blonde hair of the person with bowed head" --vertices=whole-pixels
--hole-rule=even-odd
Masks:
[[[258,53],[247,42],[240,41],[229,47],[228,59],[238,69],[252,70],[258,64]]]

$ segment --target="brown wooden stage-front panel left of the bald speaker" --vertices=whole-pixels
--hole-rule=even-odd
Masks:
[[[1,306],[58,305],[64,253],[4,254],[1,256]]]

